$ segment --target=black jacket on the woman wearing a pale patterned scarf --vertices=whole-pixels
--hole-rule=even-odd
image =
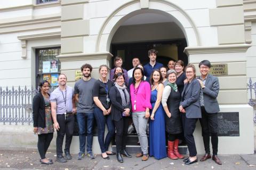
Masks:
[[[121,95],[119,93],[119,91],[117,90],[116,86],[112,86],[110,88],[110,92],[109,92],[109,98],[111,100],[111,117],[112,120],[118,121],[120,119],[123,118],[123,112],[124,112],[124,108],[122,106],[122,98]],[[129,106],[127,107],[130,110],[132,109],[132,104],[130,102]]]

